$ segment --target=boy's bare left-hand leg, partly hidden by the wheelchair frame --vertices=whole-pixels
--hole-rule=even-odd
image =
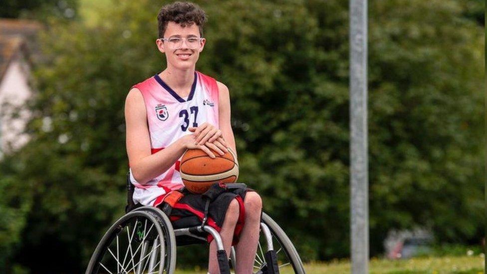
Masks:
[[[234,199],[227,209],[227,213],[225,214],[225,221],[223,222],[222,230],[220,231],[220,237],[222,238],[223,246],[225,248],[225,251],[227,252],[227,256],[230,256],[230,247],[234,238],[235,225],[237,225],[237,221],[239,220],[239,213],[239,202]],[[212,243],[210,244],[210,260],[208,263],[208,273],[211,274],[220,273],[220,268],[218,266],[217,260],[217,250],[218,249],[216,242],[212,241]]]

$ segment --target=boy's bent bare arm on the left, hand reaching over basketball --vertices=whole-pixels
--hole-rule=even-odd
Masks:
[[[163,150],[151,154],[144,98],[137,88],[125,100],[126,146],[130,169],[135,180],[145,184],[166,172],[188,148],[199,148],[210,157],[215,155],[205,146],[195,146],[195,135],[181,137]]]

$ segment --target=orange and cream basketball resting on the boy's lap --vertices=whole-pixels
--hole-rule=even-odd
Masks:
[[[224,155],[212,152],[212,159],[201,149],[188,149],[181,159],[179,172],[187,190],[195,194],[205,193],[214,183],[235,183],[239,178],[239,163],[229,148]]]

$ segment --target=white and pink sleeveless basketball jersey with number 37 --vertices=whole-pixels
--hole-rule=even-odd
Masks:
[[[218,121],[217,81],[199,71],[187,98],[181,98],[158,74],[134,85],[144,97],[147,123],[151,138],[152,154],[164,149],[184,135],[191,134],[190,127],[208,122],[220,128]],[[179,163],[150,180],[139,184],[130,171],[130,180],[135,186],[133,200],[145,206],[157,206],[164,194],[183,187]]]

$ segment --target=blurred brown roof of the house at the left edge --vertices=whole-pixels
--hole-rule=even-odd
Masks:
[[[36,21],[0,18],[0,81],[16,54],[37,54],[35,40],[41,29],[42,24]]]

